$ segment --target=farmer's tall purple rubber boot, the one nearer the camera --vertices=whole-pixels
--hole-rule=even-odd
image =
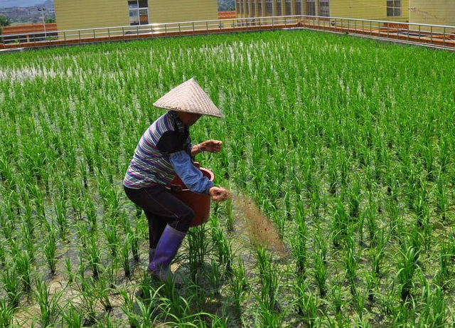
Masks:
[[[171,261],[176,256],[185,236],[186,233],[178,231],[169,225],[164,228],[158,245],[156,245],[154,259],[149,264],[150,273],[162,282],[173,280],[170,268]]]

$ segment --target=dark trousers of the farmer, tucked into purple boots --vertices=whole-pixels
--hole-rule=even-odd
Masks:
[[[124,186],[124,191],[130,201],[144,210],[149,221],[150,248],[156,248],[166,224],[183,233],[190,228],[194,217],[193,210],[169,194],[164,186],[141,189]]]

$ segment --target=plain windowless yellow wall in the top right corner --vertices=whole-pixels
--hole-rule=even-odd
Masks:
[[[410,0],[410,22],[455,26],[455,1]]]

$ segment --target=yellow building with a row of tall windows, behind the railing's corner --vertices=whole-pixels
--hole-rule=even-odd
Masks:
[[[235,10],[237,18],[310,15],[408,21],[409,1],[412,0],[235,0]]]

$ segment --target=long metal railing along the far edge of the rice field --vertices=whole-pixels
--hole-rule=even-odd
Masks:
[[[140,26],[53,31],[51,33],[43,33],[42,31],[36,33],[28,32],[0,36],[0,48],[57,46],[61,44],[117,41],[133,38],[282,28],[316,29],[375,38],[390,38],[408,43],[426,43],[443,48],[455,48],[455,26],[301,15],[153,23]]]

